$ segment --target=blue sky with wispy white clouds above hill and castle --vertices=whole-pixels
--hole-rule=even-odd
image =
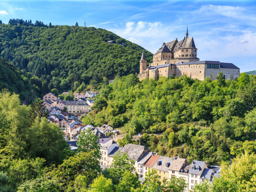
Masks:
[[[155,53],[188,25],[203,60],[256,70],[255,1],[0,1],[0,19],[104,28]]]

